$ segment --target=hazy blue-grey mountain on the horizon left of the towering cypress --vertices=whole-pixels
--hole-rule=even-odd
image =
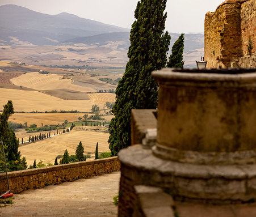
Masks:
[[[17,44],[23,41],[34,45],[57,45],[60,41],[102,33],[129,32],[79,16],[61,13],[42,14],[16,5],[0,6],[0,43]]]

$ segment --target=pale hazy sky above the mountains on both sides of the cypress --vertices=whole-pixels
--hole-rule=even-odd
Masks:
[[[131,28],[138,0],[0,0],[44,14],[68,12],[81,18],[119,27]],[[215,11],[223,0],[167,0],[166,30],[169,32],[204,32],[204,16]],[[1,22],[1,20],[0,20]]]

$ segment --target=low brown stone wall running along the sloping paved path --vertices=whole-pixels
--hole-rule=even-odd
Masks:
[[[9,172],[11,193],[23,192],[26,189],[44,188],[47,185],[61,184],[65,181],[74,181],[78,178],[98,176],[120,169],[117,157],[99,160],[82,161],[72,164],[54,165],[24,171]],[[0,193],[8,190],[6,173],[0,173]]]

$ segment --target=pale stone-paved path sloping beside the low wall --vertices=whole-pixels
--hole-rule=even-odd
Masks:
[[[0,216],[117,216],[114,199],[120,172],[112,172],[14,194]]]

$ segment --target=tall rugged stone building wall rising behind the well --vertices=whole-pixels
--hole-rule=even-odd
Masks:
[[[207,68],[256,67],[254,49],[248,56],[249,36],[256,42],[256,1],[226,0],[204,23],[204,59]],[[255,33],[255,34],[254,34]]]

